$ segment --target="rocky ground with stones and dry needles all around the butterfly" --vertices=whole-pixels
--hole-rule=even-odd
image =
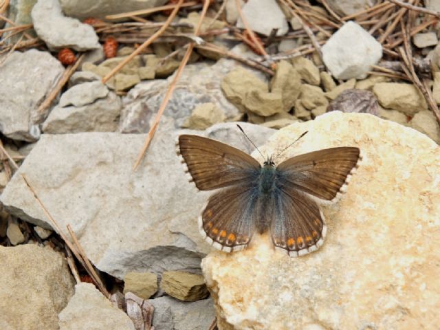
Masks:
[[[0,1],[0,329],[438,329],[439,12]],[[175,140],[253,153],[236,122],[264,155],[361,149],[318,252],[199,234]]]

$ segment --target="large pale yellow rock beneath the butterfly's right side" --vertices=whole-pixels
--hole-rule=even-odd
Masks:
[[[437,329],[439,146],[373,115],[333,111],[281,129],[261,151],[274,155],[304,131],[283,157],[359,146],[364,158],[347,193],[322,206],[318,251],[290,259],[255,236],[248,250],[203,259],[219,329]]]

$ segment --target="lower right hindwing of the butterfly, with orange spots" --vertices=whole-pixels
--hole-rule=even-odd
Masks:
[[[318,250],[327,228],[316,201],[292,188],[277,189],[270,234],[276,248],[289,256],[301,256]]]

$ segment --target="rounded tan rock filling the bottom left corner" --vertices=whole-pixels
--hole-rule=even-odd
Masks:
[[[74,294],[63,254],[34,244],[0,245],[0,329],[58,330],[58,313]]]

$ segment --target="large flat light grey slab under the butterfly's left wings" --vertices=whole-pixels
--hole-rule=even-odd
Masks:
[[[242,126],[257,146],[274,132]],[[25,173],[60,228],[72,225],[99,270],[121,279],[126,272],[200,272],[210,245],[199,234],[197,217],[210,192],[197,192],[188,183],[175,154],[174,127],[173,120],[162,118],[135,172],[132,166],[146,135],[44,134],[0,200],[17,217],[51,229],[21,177]],[[254,150],[233,122],[196,132]]]

